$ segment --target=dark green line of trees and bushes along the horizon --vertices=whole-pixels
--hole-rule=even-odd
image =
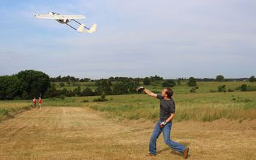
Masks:
[[[56,84],[51,83],[59,82],[60,86],[64,87],[64,82],[89,81],[93,82],[91,85],[95,87],[94,90],[90,87],[81,89],[80,86],[74,90],[68,90],[66,88],[57,89]],[[110,77],[108,79],[98,80],[89,78],[79,79],[74,76],[57,76],[53,78],[42,71],[26,70],[20,71],[12,76],[0,76],[0,100],[31,99],[33,97],[39,97],[39,95],[43,97],[92,96],[102,95],[102,93],[105,95],[124,95],[135,93],[137,87],[140,85],[151,85],[155,81],[158,84],[162,84],[162,87],[174,87],[181,85],[181,81],[187,81],[187,85],[192,87],[190,92],[195,92],[198,89],[197,81],[199,80],[194,77],[190,77],[189,79],[163,79],[157,75],[146,78]],[[212,81],[226,81],[226,79],[224,76],[218,75]],[[251,76],[247,81],[256,81],[255,76]]]

